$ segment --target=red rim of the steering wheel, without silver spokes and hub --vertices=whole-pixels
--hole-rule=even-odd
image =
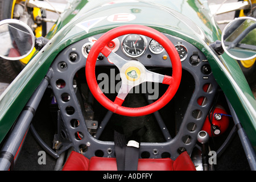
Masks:
[[[121,106],[123,100],[120,98],[116,98],[115,101],[109,100],[108,97],[105,96],[104,93],[100,90],[95,74],[95,67],[96,61],[99,53],[101,52],[104,56],[108,57],[112,51],[106,47],[107,43],[111,40],[126,34],[139,34],[148,36],[151,39],[156,40],[159,44],[161,44],[164,49],[166,49],[168,55],[170,56],[171,63],[172,63],[172,76],[164,76],[163,84],[168,84],[168,89],[166,92],[160,97],[158,100],[153,102],[150,105],[143,106],[143,107],[124,107]],[[179,88],[180,81],[181,81],[181,61],[179,54],[177,53],[174,44],[162,33],[159,31],[142,25],[137,24],[130,24],[125,25],[117,28],[113,28],[112,30],[106,32],[104,35],[101,36],[100,39],[97,40],[96,43],[90,49],[90,53],[86,60],[85,65],[85,75],[86,80],[89,86],[90,91],[92,92],[94,98],[102,106],[106,109],[112,111],[113,113],[126,115],[126,116],[141,116],[154,113],[155,111],[161,109],[163,106],[168,104],[171,99],[174,97],[177,89]],[[123,80],[122,80],[123,82]]]

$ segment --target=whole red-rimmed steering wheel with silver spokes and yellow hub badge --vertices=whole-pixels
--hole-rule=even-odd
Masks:
[[[126,34],[148,36],[161,44],[170,56],[172,63],[172,76],[160,75],[158,73],[148,71],[143,64],[139,63],[139,61],[124,60],[122,57],[118,56],[116,53],[112,52],[108,47],[106,47],[111,40]],[[104,56],[108,57],[108,59],[111,60],[120,71],[122,85],[114,102],[109,100],[109,98],[102,93],[97,84],[95,67],[100,52]],[[134,74],[137,75],[137,78],[131,77],[131,71],[135,71]],[[154,113],[168,104],[179,88],[181,72],[180,57],[174,47],[174,44],[172,44],[171,41],[159,31],[141,25],[125,25],[106,32],[101,36],[100,39],[97,40],[96,43],[94,43],[93,47],[90,49],[85,66],[86,80],[89,89],[96,100],[113,113],[133,117]],[[122,103],[131,88],[145,81],[160,82],[170,86],[168,86],[166,93],[164,93],[162,97],[150,105],[135,108],[122,106]]]

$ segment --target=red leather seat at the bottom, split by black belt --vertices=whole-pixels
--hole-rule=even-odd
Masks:
[[[86,158],[75,151],[71,152],[63,171],[117,171],[115,158]],[[196,171],[196,168],[187,152],[183,152],[176,160],[139,159],[138,171]]]

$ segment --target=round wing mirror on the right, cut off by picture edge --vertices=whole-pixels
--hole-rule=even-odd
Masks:
[[[230,57],[237,60],[253,59],[256,56],[256,19],[234,19],[224,28],[221,42]]]

